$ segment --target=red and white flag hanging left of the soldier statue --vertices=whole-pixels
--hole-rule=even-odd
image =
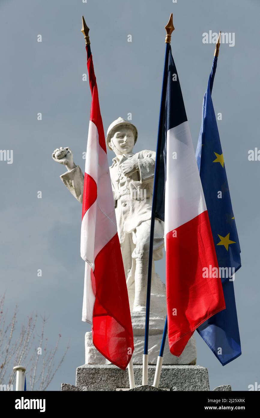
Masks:
[[[81,257],[86,262],[82,321],[92,325],[96,349],[124,370],[134,338],[96,76],[90,47],[86,50],[92,102],[81,224]]]

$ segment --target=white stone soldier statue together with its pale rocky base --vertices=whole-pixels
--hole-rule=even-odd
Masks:
[[[109,126],[106,144],[116,154],[109,169],[129,304],[132,312],[132,324],[135,337],[134,363],[138,364],[139,360],[137,360],[137,356],[139,356],[141,364],[144,342],[155,152],[144,150],[133,153],[136,140],[137,129],[129,121],[119,117]],[[73,161],[71,149],[68,147],[57,148],[54,150],[52,157],[54,161],[66,166],[67,172],[60,176],[61,180],[73,196],[82,203],[84,176],[81,168],[76,166]],[[160,335],[163,331],[166,316],[165,285],[154,270],[154,260],[160,260],[163,257],[163,247],[164,222],[155,219],[151,282],[151,335],[149,336],[149,342],[152,340],[154,349],[152,359],[151,352],[149,352],[149,359],[152,364],[156,363],[157,360]],[[96,357],[97,354],[94,347],[91,346],[91,335],[87,336],[86,339],[86,362],[89,363],[91,362],[91,352],[94,350],[95,353],[92,353],[92,357]],[[101,357],[98,359],[99,363],[102,362]],[[169,358],[168,362],[166,357]],[[195,363],[196,347],[194,337],[190,339],[182,356],[178,359],[169,353],[167,344],[164,353],[164,364]]]

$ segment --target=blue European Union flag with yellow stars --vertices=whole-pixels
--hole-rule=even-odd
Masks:
[[[232,280],[233,273],[241,267],[241,261],[220,135],[211,97],[216,68],[217,57],[214,57],[207,91],[203,99],[202,125],[196,158],[219,265],[217,274],[220,274],[222,278],[226,309],[205,321],[197,328],[197,331],[217,359],[225,366],[241,354]]]

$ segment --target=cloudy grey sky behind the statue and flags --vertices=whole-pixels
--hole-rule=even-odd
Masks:
[[[71,339],[51,390],[75,382],[76,367],[84,363],[84,334],[90,330],[81,321],[81,205],[59,179],[63,167],[51,159],[55,148],[70,146],[76,164],[84,167],[91,95],[82,81],[87,70],[81,15],[91,29],[104,129],[131,112],[139,130],[138,151],[156,147],[164,25],[171,12],[172,53],[194,148],[215,48],[202,43],[202,33],[235,32],[234,47],[220,46],[212,97],[215,112],[222,112],[218,127],[242,250],[235,278],[242,356],[222,367],[194,335],[197,364],[208,368],[211,389],[230,383],[233,390],[247,390],[260,383],[260,161],[247,159],[248,150],[260,148],[259,2],[1,0],[0,148],[13,149],[13,164],[0,161],[0,293],[6,291],[9,312],[18,303],[20,323],[32,311],[49,317],[48,343],[54,346],[62,334],[60,357]],[[113,153],[108,155],[111,161]],[[164,263],[157,262],[161,277]]]

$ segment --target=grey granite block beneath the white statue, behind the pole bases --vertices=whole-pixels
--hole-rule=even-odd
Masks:
[[[148,366],[148,385],[154,382],[155,366]],[[142,384],[142,366],[134,365],[135,384]],[[76,370],[76,387],[86,391],[111,391],[129,388],[128,370],[112,364],[84,364]],[[208,371],[201,366],[162,366],[159,388],[179,390],[210,390]]]

